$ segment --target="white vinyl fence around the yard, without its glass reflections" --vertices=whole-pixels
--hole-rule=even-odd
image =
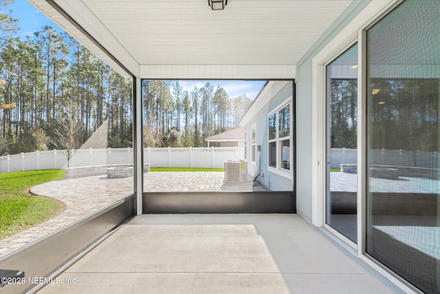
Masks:
[[[243,159],[243,147],[145,148],[144,162],[150,167],[223,167],[229,159]],[[133,164],[133,148],[78,149],[69,167]],[[39,169],[65,169],[67,151],[49,150],[0,157],[0,173]]]

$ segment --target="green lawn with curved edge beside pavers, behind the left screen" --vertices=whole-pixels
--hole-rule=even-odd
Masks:
[[[28,192],[35,185],[63,178],[63,170],[52,169],[0,174],[0,240],[63,212],[62,202]]]

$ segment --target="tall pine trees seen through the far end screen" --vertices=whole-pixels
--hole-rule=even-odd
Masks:
[[[190,92],[179,81],[144,81],[144,145],[203,147],[205,138],[236,127],[250,105],[245,95],[230,98],[206,83]]]

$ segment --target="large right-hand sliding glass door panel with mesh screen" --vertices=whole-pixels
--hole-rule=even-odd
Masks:
[[[440,293],[440,1],[366,31],[366,253]]]

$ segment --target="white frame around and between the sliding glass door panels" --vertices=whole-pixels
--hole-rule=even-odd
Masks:
[[[364,52],[365,31],[384,15],[391,12],[402,0],[372,0],[357,17],[325,45],[312,59],[312,223],[316,227],[325,224],[325,196],[326,196],[326,74],[325,67],[344,50],[358,42],[358,258],[371,266],[372,269],[383,275],[405,293],[417,293],[412,286],[402,282],[399,277],[390,273],[384,266],[365,253],[365,145],[366,145],[366,116],[365,116],[365,78],[366,57]],[[334,236],[334,235],[333,235]],[[333,240],[346,246],[340,238]]]

